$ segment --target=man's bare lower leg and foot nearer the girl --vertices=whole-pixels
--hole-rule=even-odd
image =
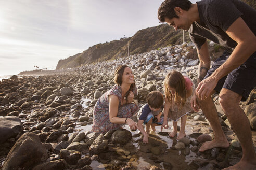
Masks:
[[[212,92],[211,94],[213,93],[214,92]],[[199,102],[200,108],[203,111],[203,114],[206,115],[214,132],[214,139],[212,141],[206,141],[205,143],[203,143],[199,151],[203,152],[208,149],[212,149],[216,147],[221,147],[221,148],[228,147],[229,143],[222,130],[222,127],[217,115],[217,109],[215,104],[212,101],[211,95],[204,100],[200,100],[199,98],[197,98],[197,100]]]

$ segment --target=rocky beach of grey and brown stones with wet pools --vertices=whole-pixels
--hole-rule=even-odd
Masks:
[[[188,114],[187,135],[178,141],[169,137],[171,129],[161,132],[160,126],[150,133],[149,144],[142,142],[138,130],[131,131],[128,126],[106,134],[90,132],[94,105],[114,86],[117,66],[132,68],[138,88],[134,102],[141,107],[150,91],[164,93],[163,80],[170,70],[180,71],[195,83],[198,64],[195,46],[183,43],[37,76],[2,79],[0,169],[223,169],[236,164],[241,159],[241,146],[217,94],[212,97],[228,148],[198,151],[204,141],[214,138],[202,111]],[[240,107],[250,121],[256,150],[255,88]]]

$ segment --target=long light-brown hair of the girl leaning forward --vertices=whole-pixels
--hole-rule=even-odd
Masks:
[[[172,71],[167,74],[164,79],[164,94],[169,102],[172,102],[172,98],[174,98],[174,102],[178,104],[181,109],[186,103],[186,87],[185,87],[185,79],[180,72]],[[175,89],[175,96],[169,91],[168,87]]]

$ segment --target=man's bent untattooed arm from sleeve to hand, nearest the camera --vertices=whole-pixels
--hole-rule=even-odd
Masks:
[[[237,42],[237,46],[224,64],[198,84],[196,93],[199,98],[208,97],[222,77],[244,63],[256,51],[256,36],[241,17],[229,26],[226,33]]]

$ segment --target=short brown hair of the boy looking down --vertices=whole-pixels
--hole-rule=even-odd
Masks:
[[[159,91],[151,91],[147,96],[147,103],[150,107],[158,109],[163,105],[163,94]]]

